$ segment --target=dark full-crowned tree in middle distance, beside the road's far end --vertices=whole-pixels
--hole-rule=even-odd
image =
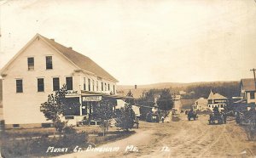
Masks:
[[[170,89],[163,89],[160,92],[160,98],[156,101],[160,110],[171,110],[173,107],[172,95]]]

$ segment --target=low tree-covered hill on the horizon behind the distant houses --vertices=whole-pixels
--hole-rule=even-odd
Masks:
[[[178,83],[178,82],[163,82],[154,83],[148,85],[118,85],[118,93],[121,95],[126,95],[130,90],[135,98],[140,98],[144,91],[149,89],[163,89],[169,88],[171,92],[179,93],[184,91],[183,99],[199,99],[201,97],[207,98],[210,91],[214,93],[220,93],[228,98],[233,96],[239,96],[239,83],[235,82],[191,82],[191,83]]]

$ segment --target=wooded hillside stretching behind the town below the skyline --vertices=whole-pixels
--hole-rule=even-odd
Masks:
[[[230,99],[232,97],[240,96],[239,84],[240,82],[195,82],[181,84],[179,86],[173,86],[175,85],[174,83],[172,86],[166,84],[165,87],[170,89],[171,93],[179,93],[180,91],[186,92],[186,94],[183,94],[182,99],[199,99],[201,97],[207,99],[211,90],[213,93],[219,93]],[[136,93],[137,98],[143,97],[146,93],[148,95],[159,95],[160,91],[164,89],[162,84],[154,84],[154,87],[152,85],[148,85],[147,88],[138,86],[139,88],[137,89],[134,87],[129,87],[128,89],[122,89],[122,86],[119,87],[120,89],[118,93],[126,95],[130,90],[131,93]]]

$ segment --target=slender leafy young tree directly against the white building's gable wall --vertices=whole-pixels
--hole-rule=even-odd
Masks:
[[[59,91],[48,95],[47,102],[41,104],[41,111],[44,113],[46,120],[53,121],[56,131],[59,133],[62,132],[63,127],[65,127],[65,122],[61,121],[60,116],[64,114],[64,111],[67,109],[65,104],[65,96],[67,93],[66,86],[63,85]]]

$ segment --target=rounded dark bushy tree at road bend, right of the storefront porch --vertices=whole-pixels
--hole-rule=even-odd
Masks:
[[[117,127],[121,127],[125,131],[128,131],[133,127],[135,121],[135,113],[132,110],[131,104],[125,104],[125,107],[120,109],[116,121]]]

